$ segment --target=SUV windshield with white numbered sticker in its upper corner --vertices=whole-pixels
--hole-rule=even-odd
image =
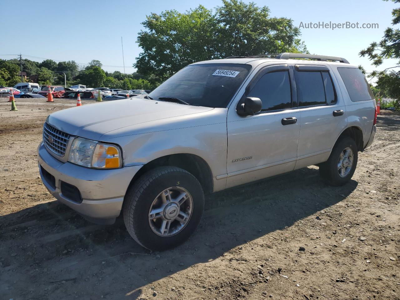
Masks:
[[[251,66],[246,64],[196,64],[183,68],[149,94],[178,98],[194,106],[226,108]]]

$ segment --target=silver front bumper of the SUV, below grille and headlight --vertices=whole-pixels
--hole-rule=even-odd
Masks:
[[[43,142],[38,146],[38,165],[42,182],[54,198],[96,223],[115,221],[130,181],[142,167],[99,170],[64,163],[54,158]],[[77,188],[77,197],[64,188],[71,185]]]

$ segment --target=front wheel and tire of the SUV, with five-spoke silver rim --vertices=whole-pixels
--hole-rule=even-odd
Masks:
[[[204,193],[198,180],[176,167],[143,174],[124,199],[124,223],[132,238],[150,250],[166,250],[186,241],[198,226]]]

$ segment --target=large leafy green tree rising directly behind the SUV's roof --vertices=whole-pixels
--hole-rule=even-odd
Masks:
[[[185,13],[151,14],[138,34],[143,51],[134,66],[160,82],[192,62],[226,56],[306,52],[300,30],[287,18],[271,18],[254,3],[223,0],[215,12],[204,6]]]

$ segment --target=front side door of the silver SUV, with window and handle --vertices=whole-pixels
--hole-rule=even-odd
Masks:
[[[236,107],[246,97],[260,98],[262,111],[239,116]],[[227,121],[227,188],[293,170],[300,134],[293,69],[280,64],[259,70],[230,106]]]

